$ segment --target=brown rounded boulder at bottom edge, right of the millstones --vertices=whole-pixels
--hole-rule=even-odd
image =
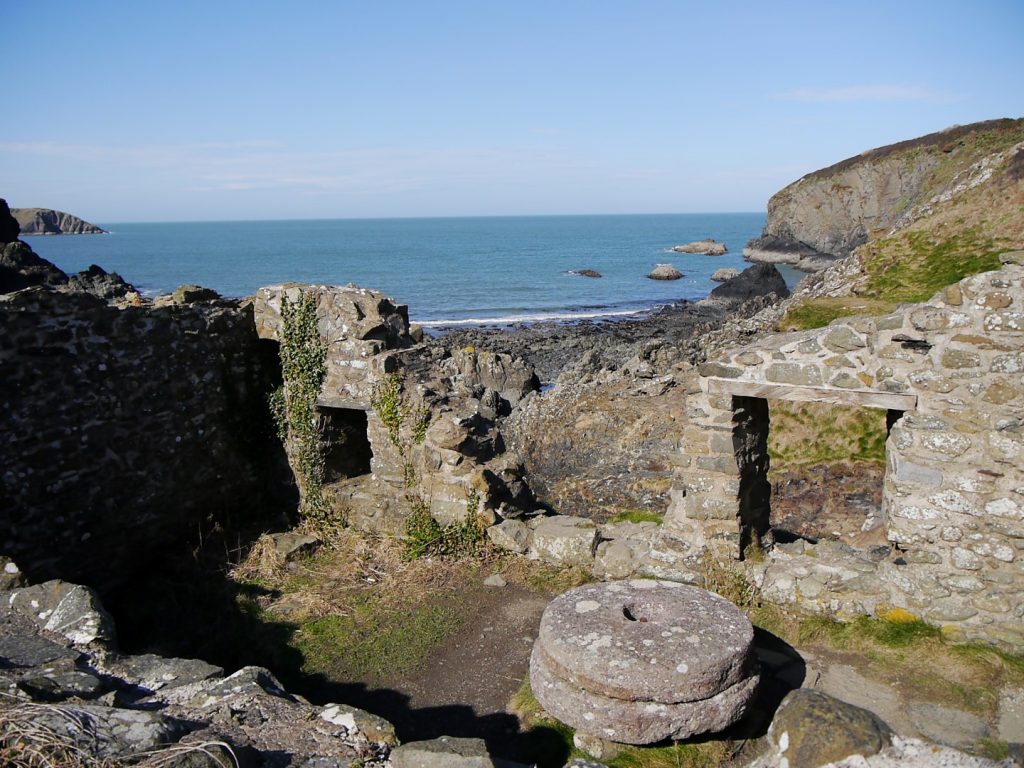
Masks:
[[[851,755],[869,756],[892,741],[878,715],[817,690],[798,688],[782,699],[768,729],[776,758],[793,768],[817,768]]]

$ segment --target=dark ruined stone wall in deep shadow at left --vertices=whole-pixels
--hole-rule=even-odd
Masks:
[[[0,551],[105,590],[273,497],[251,307],[0,296]]]

